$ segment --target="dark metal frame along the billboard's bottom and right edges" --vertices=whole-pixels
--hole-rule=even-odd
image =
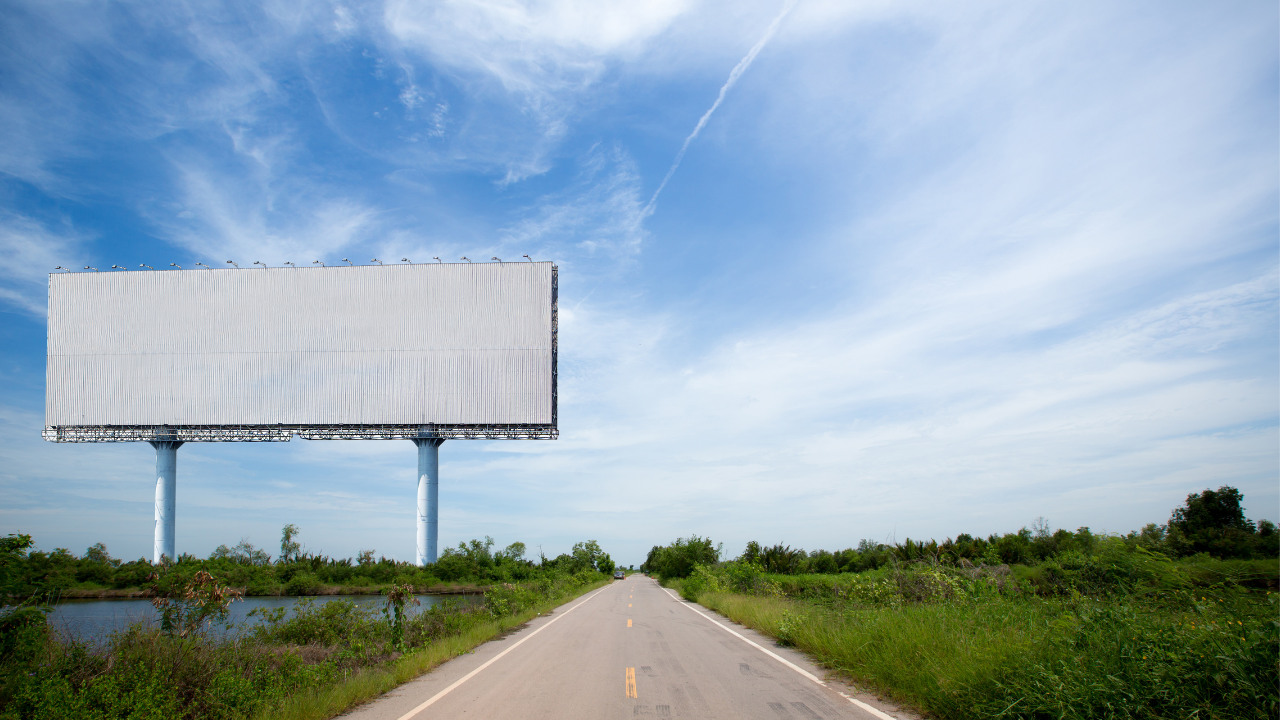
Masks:
[[[552,265],[552,421],[544,424],[45,425],[50,442],[288,442],[305,439],[556,439],[559,437],[559,268]]]

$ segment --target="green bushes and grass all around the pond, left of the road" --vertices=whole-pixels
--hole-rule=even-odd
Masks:
[[[148,592],[161,621],[87,642],[51,632],[50,606],[37,602],[63,591],[56,582],[38,584],[49,578],[41,575],[49,556],[29,552],[29,537],[0,538],[0,589],[8,591],[0,601],[32,594],[33,584],[37,589],[37,600],[0,609],[0,719],[332,717],[609,582],[600,570],[612,571],[612,562],[590,541],[541,564],[522,560],[522,546],[515,548],[521,552],[490,553],[490,544],[472,541],[425,570],[367,556],[365,562],[294,556],[284,562],[140,561],[152,573]],[[76,559],[81,570],[120,569],[93,550]],[[230,585],[244,574],[297,575],[319,566],[335,573],[358,568],[369,577],[379,565],[399,571],[397,580],[443,565],[461,575],[456,580],[488,591],[484,603],[453,600],[413,614],[413,584],[393,582],[381,612],[343,600],[302,598],[292,612],[259,609],[236,633],[211,632],[227,623],[239,594]],[[219,577],[211,569],[229,571]]]

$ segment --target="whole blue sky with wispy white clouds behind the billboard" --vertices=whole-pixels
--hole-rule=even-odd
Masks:
[[[154,451],[40,439],[55,265],[524,254],[561,266],[561,439],[447,442],[444,544],[1128,532],[1221,484],[1276,520],[1276,26],[1262,1],[10,1],[4,532],[150,556]],[[178,550],[296,523],[412,559],[415,468],[408,442],[187,445]]]

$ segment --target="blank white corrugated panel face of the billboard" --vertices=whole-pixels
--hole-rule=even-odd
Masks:
[[[550,424],[553,268],[61,273],[45,424]]]

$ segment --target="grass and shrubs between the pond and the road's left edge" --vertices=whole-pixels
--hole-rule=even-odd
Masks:
[[[137,624],[96,644],[24,611],[0,628],[0,720],[332,717],[605,582],[581,573],[503,585],[484,605],[438,605],[398,629],[347,601],[303,600],[238,634]]]

